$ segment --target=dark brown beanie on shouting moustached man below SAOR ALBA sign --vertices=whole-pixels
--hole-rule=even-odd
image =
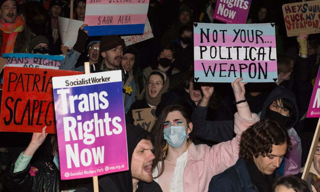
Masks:
[[[100,53],[114,49],[119,45],[122,45],[124,51],[127,50],[124,40],[118,35],[104,35],[100,40]]]

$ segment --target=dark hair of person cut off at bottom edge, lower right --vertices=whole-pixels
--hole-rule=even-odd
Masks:
[[[311,192],[309,189],[308,183],[299,177],[295,177],[290,175],[288,177],[279,177],[277,178],[272,186],[270,186],[270,192],[275,192],[276,187],[279,185],[283,185],[288,189],[293,189],[295,192]]]

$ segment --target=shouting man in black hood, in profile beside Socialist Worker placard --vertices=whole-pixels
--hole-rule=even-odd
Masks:
[[[129,170],[104,175],[99,179],[100,192],[162,192],[152,178],[152,150],[154,136],[141,127],[126,125]],[[138,165],[138,166],[137,166]],[[141,165],[141,166],[139,166]],[[79,188],[76,192],[93,192],[93,186]]]

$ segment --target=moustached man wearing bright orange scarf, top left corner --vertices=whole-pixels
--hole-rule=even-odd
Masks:
[[[17,13],[16,0],[0,1],[0,47],[2,53],[27,53],[35,35]]]

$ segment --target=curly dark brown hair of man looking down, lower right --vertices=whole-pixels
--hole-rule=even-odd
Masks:
[[[245,161],[266,157],[272,152],[272,145],[286,143],[287,149],[292,149],[288,132],[274,120],[260,120],[246,129],[241,135],[239,157]]]

